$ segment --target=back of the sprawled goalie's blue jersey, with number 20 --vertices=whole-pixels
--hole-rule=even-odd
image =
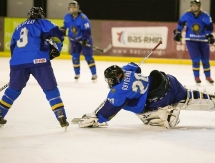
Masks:
[[[140,113],[146,102],[148,85],[148,77],[125,71],[124,79],[110,90],[108,98],[114,100],[115,106],[121,106],[126,101],[123,109]]]

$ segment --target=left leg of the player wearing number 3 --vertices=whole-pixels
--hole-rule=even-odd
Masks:
[[[14,101],[19,97],[22,89],[26,86],[30,74],[28,69],[10,71],[10,86],[5,90],[4,95],[0,100],[0,124],[5,124],[4,119]]]

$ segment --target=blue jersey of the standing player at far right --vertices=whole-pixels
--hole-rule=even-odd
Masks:
[[[193,40],[206,40],[205,35],[211,34],[213,31],[213,22],[210,15],[204,11],[200,11],[200,14],[195,15],[188,11],[185,12],[178,21],[178,30],[183,30],[186,25],[186,38]]]

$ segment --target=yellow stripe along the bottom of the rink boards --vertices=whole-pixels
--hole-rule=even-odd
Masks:
[[[0,52],[0,57],[10,57],[9,52]],[[93,56],[95,61],[112,61],[112,62],[134,62],[140,63],[143,58],[140,57],[117,57],[117,56]],[[71,59],[72,56],[70,54],[61,54],[56,59]],[[81,60],[85,60],[84,57],[81,55]],[[192,62],[190,59],[161,59],[161,58],[147,58],[145,63],[161,63],[161,64],[188,64],[191,65]],[[215,66],[215,61],[210,61],[211,66]]]

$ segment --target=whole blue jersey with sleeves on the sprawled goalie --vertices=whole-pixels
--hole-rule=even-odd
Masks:
[[[137,114],[144,110],[149,77],[135,73],[136,69],[130,65],[124,66],[123,70],[124,79],[110,89],[105,104],[97,113],[100,123],[113,118],[122,108]]]

